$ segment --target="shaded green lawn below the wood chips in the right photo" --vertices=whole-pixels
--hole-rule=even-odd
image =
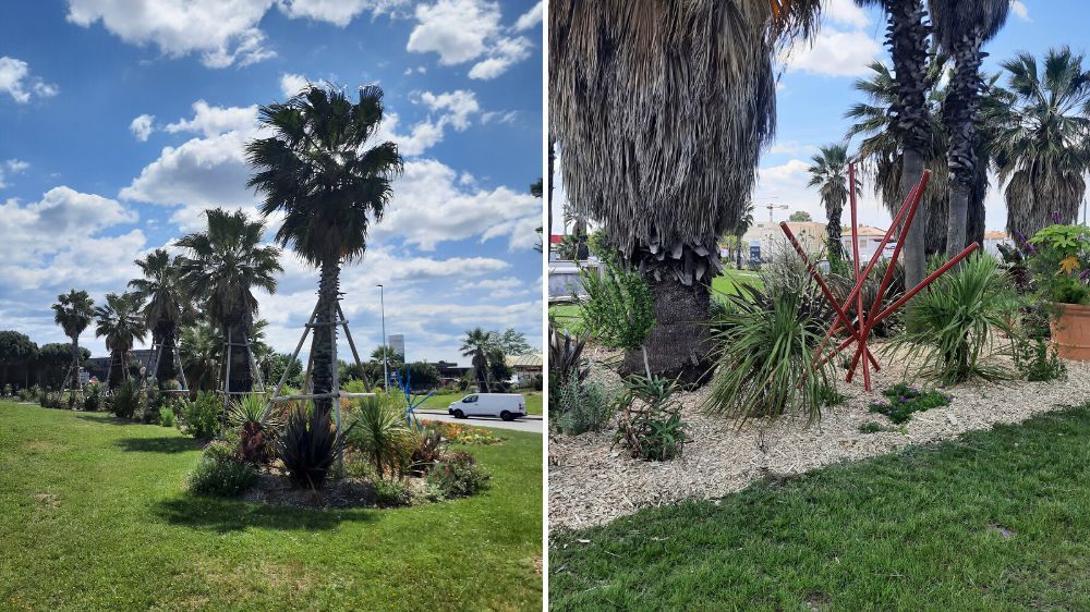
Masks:
[[[554,535],[556,610],[1090,609],[1090,404]]]

